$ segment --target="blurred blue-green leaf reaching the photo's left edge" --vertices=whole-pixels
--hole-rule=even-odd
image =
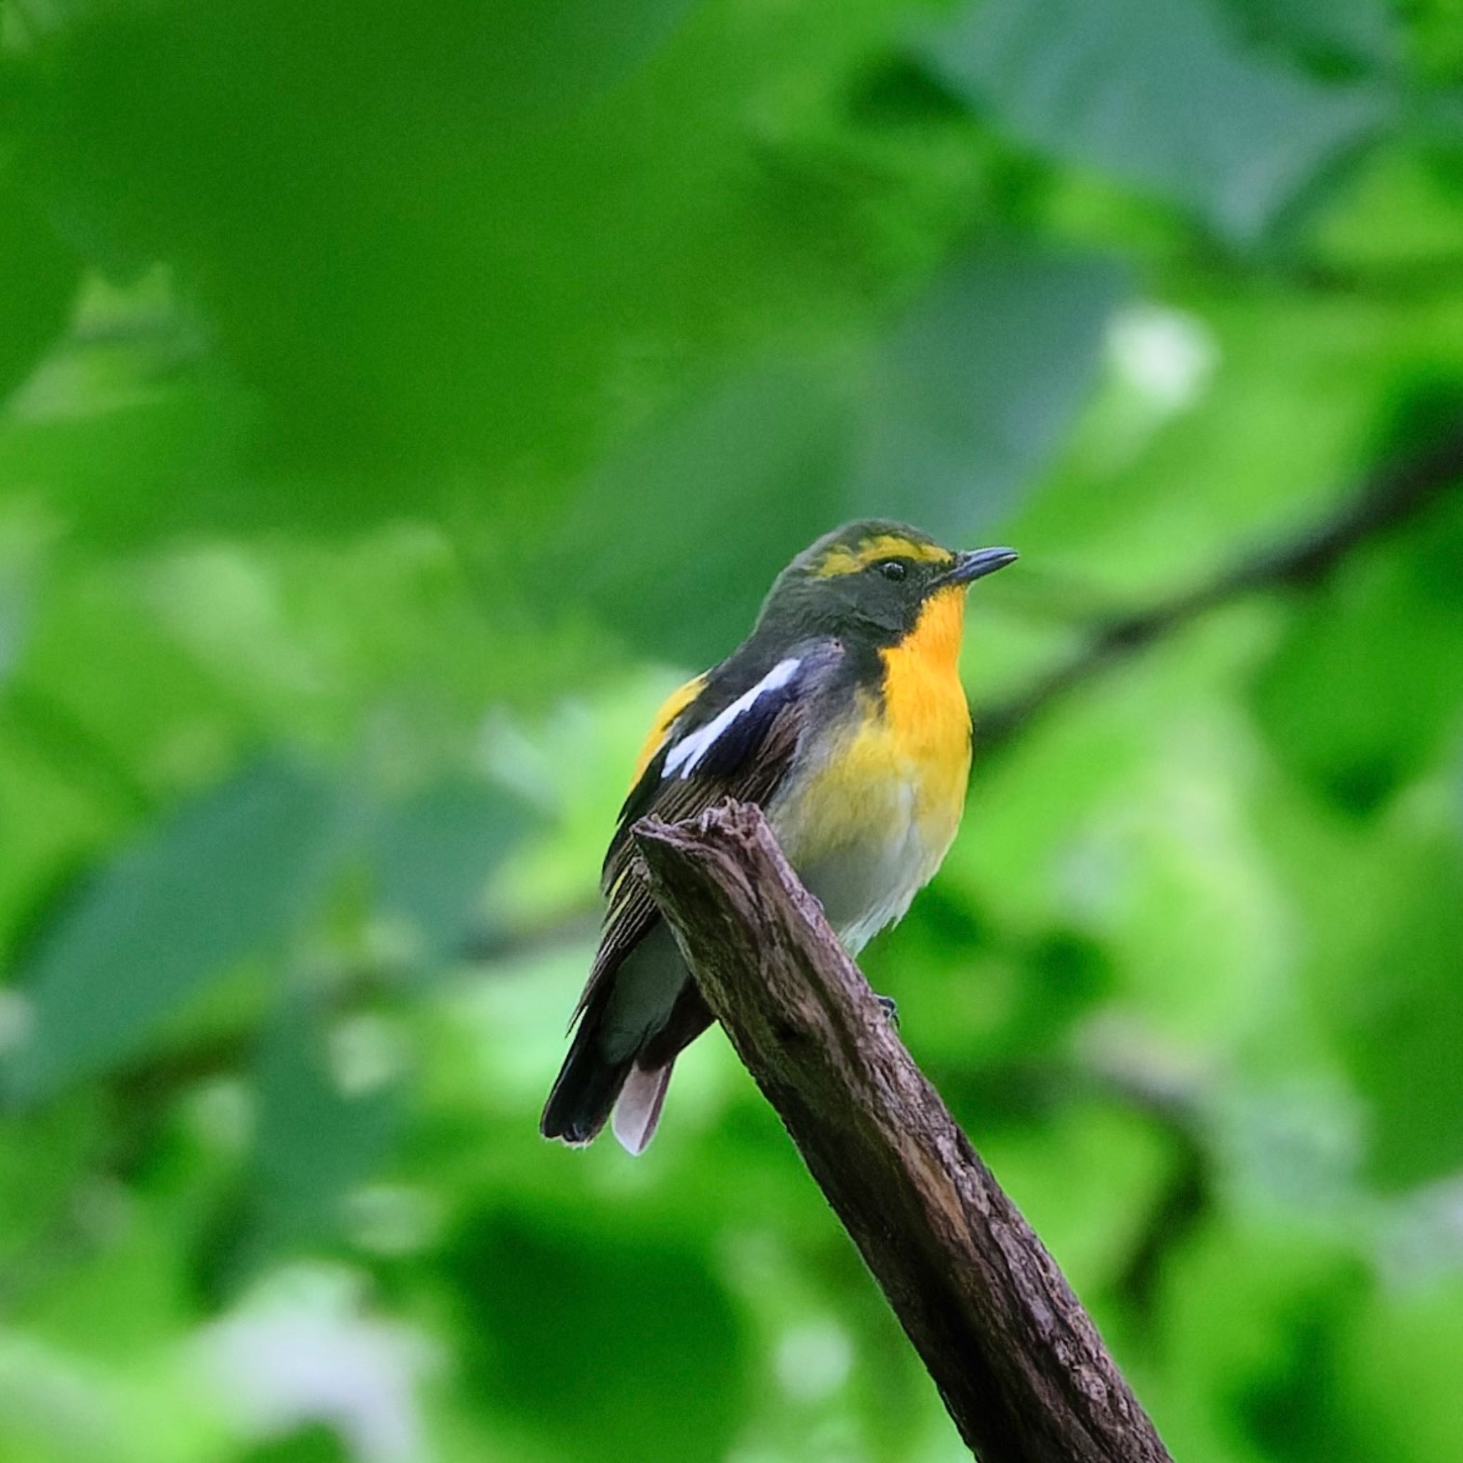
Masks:
[[[107,1071],[238,961],[282,945],[335,865],[341,805],[315,772],[259,762],[101,869],[22,966],[22,1099]]]

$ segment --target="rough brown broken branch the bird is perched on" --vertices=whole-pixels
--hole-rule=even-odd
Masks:
[[[756,808],[636,841],[707,1004],[985,1463],[1169,1454],[1090,1317],[925,1080]]]

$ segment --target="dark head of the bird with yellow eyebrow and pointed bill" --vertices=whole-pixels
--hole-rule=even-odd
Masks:
[[[759,626],[894,644],[939,600],[1015,562],[1012,549],[945,549],[929,534],[865,518],[824,534],[772,584]]]

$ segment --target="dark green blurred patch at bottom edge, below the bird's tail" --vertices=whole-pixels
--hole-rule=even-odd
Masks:
[[[497,1216],[443,1257],[467,1384],[559,1456],[720,1463],[746,1404],[745,1337],[704,1254]]]

